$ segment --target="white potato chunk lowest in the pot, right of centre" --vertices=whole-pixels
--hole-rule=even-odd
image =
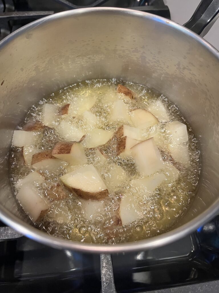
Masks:
[[[119,207],[119,217],[122,225],[129,224],[143,217],[142,208],[133,195],[123,195]]]

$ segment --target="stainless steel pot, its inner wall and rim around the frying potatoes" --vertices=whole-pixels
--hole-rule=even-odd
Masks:
[[[194,18],[187,25],[203,29]],[[44,95],[93,78],[124,79],[157,89],[178,105],[199,138],[202,173],[197,197],[165,234],[117,245],[70,242],[37,230],[17,208],[8,179],[13,130]],[[165,18],[128,9],[88,8],[48,16],[12,33],[0,43],[0,125],[0,218],[41,243],[97,253],[150,249],[191,233],[219,209],[219,52]]]

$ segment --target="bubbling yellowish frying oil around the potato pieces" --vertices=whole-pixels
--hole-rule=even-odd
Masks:
[[[124,123],[110,121],[109,115],[111,106],[115,101],[116,88],[119,83],[121,81],[115,79],[96,79],[63,88],[47,98],[43,98],[38,104],[33,105],[18,129],[22,129],[23,125],[30,120],[40,120],[44,103],[62,106],[86,96],[95,98],[95,103],[90,111],[98,118],[97,127],[103,130],[116,131]],[[55,171],[45,172],[43,169],[39,169],[38,171],[45,178],[45,183],[37,187],[51,201],[51,207],[39,221],[35,222],[35,226],[38,229],[51,235],[74,241],[120,243],[145,239],[164,233],[183,217],[196,194],[199,182],[201,161],[197,139],[178,108],[168,98],[139,84],[127,82],[123,82],[123,84],[138,96],[137,101],[131,101],[124,96],[123,101],[129,110],[147,109],[154,101],[160,100],[167,110],[170,121],[178,120],[187,125],[190,166],[184,168],[172,159],[168,150],[171,135],[166,131],[165,122],[151,126],[144,132],[145,139],[150,137],[156,139],[155,141],[166,165],[165,174],[167,176],[169,174],[169,180],[165,181],[165,184],[159,185],[159,188],[156,188],[151,194],[148,194],[143,189],[138,190],[131,185],[131,179],[138,178],[140,175],[131,156],[117,156],[116,148],[118,142],[116,137],[104,146],[101,146],[102,153],[107,155],[105,162],[98,160],[95,155],[97,148],[85,149],[87,163],[95,166],[109,190],[109,196],[103,200],[104,208],[97,209],[95,215],[93,215],[93,220],[88,220],[82,212],[82,201],[76,194],[68,191],[66,199],[54,200],[54,190],[55,186],[59,183],[59,177],[69,171],[76,170],[79,166],[70,166],[68,163],[63,163]],[[54,122],[53,128],[46,127],[37,133],[36,151],[51,150],[57,142],[63,141],[58,131],[62,119],[67,118],[59,116]],[[68,119],[69,123],[74,123],[80,130],[87,132],[93,129],[81,115],[77,117],[69,116]],[[174,175],[171,175],[171,171],[168,173],[168,167],[171,165],[179,170],[177,180],[173,180]],[[123,170],[119,175],[119,183],[117,182],[117,184],[114,184],[112,180],[115,166],[119,166]],[[15,195],[17,193],[15,183],[30,171],[32,171],[31,166],[26,166],[21,159],[21,148],[12,146],[11,182]],[[118,225],[115,214],[118,213],[121,197],[127,192],[129,195],[135,196],[144,216],[130,224],[121,226]]]

